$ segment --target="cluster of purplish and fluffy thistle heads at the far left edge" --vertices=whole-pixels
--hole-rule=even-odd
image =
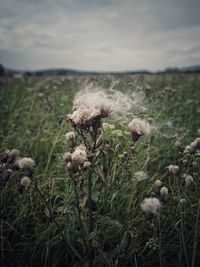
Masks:
[[[18,191],[22,193],[31,184],[34,167],[35,161],[32,158],[20,157],[20,152],[17,149],[6,149],[0,159],[1,188],[7,184],[14,173],[18,172],[21,176]]]

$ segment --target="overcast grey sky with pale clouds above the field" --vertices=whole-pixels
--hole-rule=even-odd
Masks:
[[[200,0],[0,0],[0,62],[23,70],[200,65]]]

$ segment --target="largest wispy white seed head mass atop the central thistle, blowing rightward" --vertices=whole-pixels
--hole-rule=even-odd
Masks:
[[[90,125],[97,117],[127,119],[127,113],[144,109],[144,93],[124,94],[118,90],[102,89],[94,84],[86,84],[74,98],[73,113],[68,118],[76,125]]]

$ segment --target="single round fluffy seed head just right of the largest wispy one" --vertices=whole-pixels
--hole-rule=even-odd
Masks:
[[[146,120],[141,120],[139,118],[134,118],[129,122],[128,127],[132,133],[136,133],[140,136],[149,135],[152,131],[152,126]]]

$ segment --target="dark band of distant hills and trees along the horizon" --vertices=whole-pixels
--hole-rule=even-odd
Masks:
[[[200,73],[200,65],[182,68],[169,67],[161,71],[134,70],[122,72],[81,71],[67,68],[51,68],[44,70],[26,71],[6,68],[0,63],[0,76],[58,76],[58,75],[98,75],[98,74],[154,74],[154,73]]]

